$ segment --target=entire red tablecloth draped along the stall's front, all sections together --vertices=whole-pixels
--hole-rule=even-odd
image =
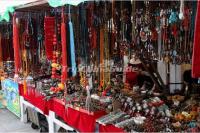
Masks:
[[[69,126],[75,128],[80,132],[94,132],[96,119],[106,114],[104,111],[88,114],[86,112],[78,111],[71,107],[66,108],[64,102],[59,99],[54,98],[49,101],[44,100],[44,96],[42,96],[34,88],[28,87],[26,94],[24,94],[23,85],[19,85],[19,88],[20,95],[23,96],[25,100],[29,101],[31,104],[42,110],[44,114],[48,115],[49,110],[51,110],[55,112],[56,115],[61,117]],[[99,125],[99,131],[123,132],[122,129],[119,129],[112,125]]]

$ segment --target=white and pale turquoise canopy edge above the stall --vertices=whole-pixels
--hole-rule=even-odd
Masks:
[[[0,0],[0,21],[9,21],[9,13],[14,12],[15,7],[33,3],[41,0]],[[65,4],[78,5],[85,0],[45,0],[51,7],[63,6]]]

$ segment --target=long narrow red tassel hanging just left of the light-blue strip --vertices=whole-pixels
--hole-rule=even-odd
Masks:
[[[67,79],[67,41],[66,41],[66,24],[64,16],[64,8],[62,9],[62,24],[61,24],[61,43],[62,43],[62,75],[61,82],[64,83]]]

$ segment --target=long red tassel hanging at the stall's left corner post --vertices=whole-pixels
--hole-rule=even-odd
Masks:
[[[19,30],[16,24],[16,13],[13,15],[13,47],[14,47],[14,62],[15,74],[18,74],[20,69],[20,48],[19,48]]]

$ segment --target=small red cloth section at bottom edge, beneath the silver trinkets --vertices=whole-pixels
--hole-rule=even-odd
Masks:
[[[99,124],[99,132],[112,132],[112,133],[125,133],[123,129],[117,128],[113,125],[101,125]]]

